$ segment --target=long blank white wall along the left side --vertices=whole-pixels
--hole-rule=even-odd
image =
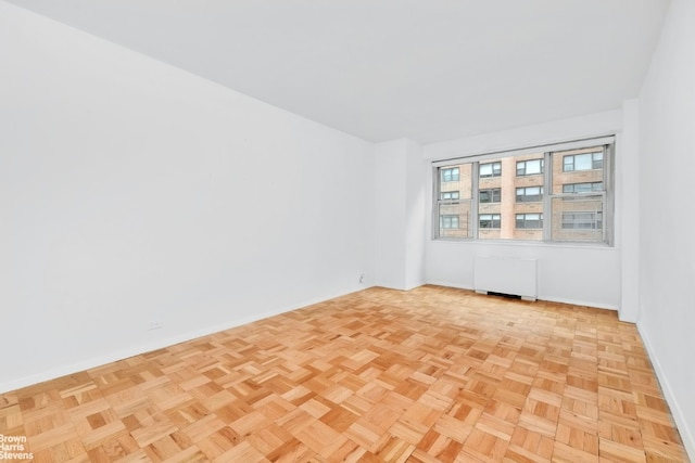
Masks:
[[[370,143],[4,2],[0,43],[0,390],[371,284]]]

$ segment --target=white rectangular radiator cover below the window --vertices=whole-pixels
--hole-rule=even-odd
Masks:
[[[535,269],[536,259],[478,256],[473,262],[473,290],[535,300]]]

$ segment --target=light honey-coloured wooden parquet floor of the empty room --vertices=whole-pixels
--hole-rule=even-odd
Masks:
[[[370,288],[0,396],[37,462],[686,461],[611,311]]]

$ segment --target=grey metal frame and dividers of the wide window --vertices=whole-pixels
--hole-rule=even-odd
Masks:
[[[579,151],[579,150],[585,150],[585,149],[591,149],[591,147],[601,147],[601,151],[594,151],[594,152],[590,152],[592,154],[592,167],[594,167],[594,153],[602,153],[602,158],[601,158],[601,163],[603,165],[603,176],[601,181],[596,180],[596,181],[587,181],[587,182],[582,182],[582,181],[577,181],[573,183],[568,183],[568,184],[574,184],[574,183],[601,183],[603,182],[603,190],[601,191],[595,191],[592,188],[592,191],[587,191],[587,192],[563,192],[563,187],[559,187],[559,192],[557,193],[553,193],[553,175],[554,175],[554,170],[559,169],[559,171],[557,172],[557,175],[563,175],[566,173],[565,169],[565,162],[564,162],[564,156],[559,157],[559,160],[556,160],[556,163],[560,163],[559,167],[557,166],[553,166],[553,155],[554,154],[561,154],[563,152],[570,152],[570,151]],[[515,237],[481,237],[479,236],[479,230],[500,230],[500,229],[490,229],[490,228],[481,228],[480,227],[480,219],[479,219],[479,215],[486,215],[486,214],[491,214],[491,211],[481,211],[480,210],[480,205],[481,204],[490,204],[490,203],[480,203],[479,201],[479,195],[480,195],[480,187],[481,183],[485,183],[488,182],[488,180],[491,177],[482,177],[480,176],[480,171],[479,171],[479,166],[481,165],[488,165],[488,164],[496,164],[500,163],[500,168],[498,171],[502,172],[503,168],[509,168],[509,166],[507,167],[503,167],[503,160],[505,158],[508,157],[516,157],[516,156],[528,156],[532,153],[543,153],[543,183],[541,185],[529,185],[529,187],[515,187],[515,188],[508,188],[508,187],[504,187],[502,188],[502,190],[506,190],[502,191],[501,195],[509,195],[509,194],[514,194],[514,200],[511,200],[514,202],[514,204],[533,204],[536,202],[522,202],[522,203],[516,203],[516,191],[517,189],[521,189],[523,188],[526,190],[526,188],[536,188],[540,187],[543,191],[542,193],[542,197],[539,201],[539,203],[543,203],[543,209],[541,211],[534,211],[531,210],[529,211],[529,214],[542,214],[543,217],[543,229],[542,229],[542,240],[538,240],[538,239],[525,239],[523,236],[515,236]],[[581,155],[583,153],[577,153],[576,155]],[[569,155],[569,154],[568,154]],[[532,159],[523,159],[523,160],[534,160]],[[433,208],[432,208],[432,234],[431,234],[431,239],[433,241],[453,241],[453,242],[477,242],[477,243],[490,243],[490,242],[498,242],[498,243],[518,243],[518,244],[525,244],[525,245],[539,245],[539,244],[547,244],[547,245],[572,245],[572,246],[601,246],[601,247],[614,247],[615,246],[615,173],[614,173],[614,165],[616,162],[616,137],[615,134],[608,134],[608,136],[604,136],[604,137],[599,137],[599,138],[594,138],[594,139],[583,139],[583,140],[576,140],[576,141],[568,141],[568,142],[563,142],[563,143],[555,143],[555,144],[546,144],[546,145],[541,145],[541,146],[528,146],[528,147],[520,147],[518,150],[509,150],[509,151],[503,151],[503,152],[491,152],[491,153],[484,153],[484,154],[477,154],[477,155],[469,155],[469,156],[463,156],[463,157],[452,157],[452,158],[447,158],[447,159],[435,159],[432,162],[432,171],[433,171],[433,182],[432,182],[432,188],[433,188],[433,194],[434,194],[434,201],[433,201]],[[439,177],[438,177],[438,172],[441,168],[446,168],[446,166],[452,166],[452,165],[467,165],[469,164],[471,166],[471,170],[470,170],[470,177],[471,177],[471,184],[469,185],[469,188],[471,189],[471,198],[470,200],[465,200],[466,203],[469,204],[468,210],[469,210],[469,222],[468,222],[468,232],[466,233],[466,236],[440,236],[439,234],[439,219],[438,214],[439,214],[439,208],[441,204],[444,204],[440,201],[438,201],[439,198],[439,187],[440,187],[440,182],[439,182]],[[516,166],[515,164],[511,164],[511,166]],[[557,169],[556,169],[557,167]],[[599,170],[599,169],[590,169],[590,170]],[[582,170],[579,170],[582,171]],[[570,173],[572,171],[569,171]],[[516,172],[510,173],[511,176],[516,177]],[[535,173],[534,173],[535,175]],[[525,176],[528,177],[528,176]],[[495,177],[498,178],[498,177]],[[518,184],[518,183],[517,183]],[[523,184],[523,183],[521,183]],[[560,185],[563,183],[559,183]],[[557,185],[556,185],[557,187]],[[467,187],[468,188],[468,187]],[[489,190],[488,188],[483,188],[483,190]],[[560,227],[561,228],[561,211],[556,211],[556,214],[553,213],[553,200],[558,200],[558,198],[569,198],[571,200],[576,200],[576,201],[581,201],[582,196],[601,196],[601,207],[602,207],[602,218],[601,218],[601,223],[602,223],[602,233],[601,233],[601,239],[596,239],[596,240],[585,240],[582,236],[574,236],[574,237],[568,237],[568,239],[564,239],[561,236],[558,236],[556,233],[555,239],[553,237],[553,223],[556,223],[556,228]],[[508,200],[507,200],[508,201]],[[598,201],[598,200],[597,200]],[[462,200],[462,203],[464,202],[464,200]],[[493,203],[494,204],[494,203]],[[498,204],[498,203],[496,203]],[[555,205],[557,206],[557,203],[555,203]],[[514,224],[513,228],[516,229],[516,214],[523,214],[527,213],[525,210],[520,210],[519,213],[516,213],[515,209],[514,213],[511,213],[511,215],[509,216],[511,219],[514,220]],[[505,213],[507,214],[507,213]],[[556,216],[556,217],[554,217]],[[506,216],[505,216],[506,217]],[[501,217],[501,222],[502,220],[509,220],[509,218],[503,218]],[[505,226],[505,229],[507,228],[507,226]],[[521,230],[539,230],[539,229],[521,229]]]

